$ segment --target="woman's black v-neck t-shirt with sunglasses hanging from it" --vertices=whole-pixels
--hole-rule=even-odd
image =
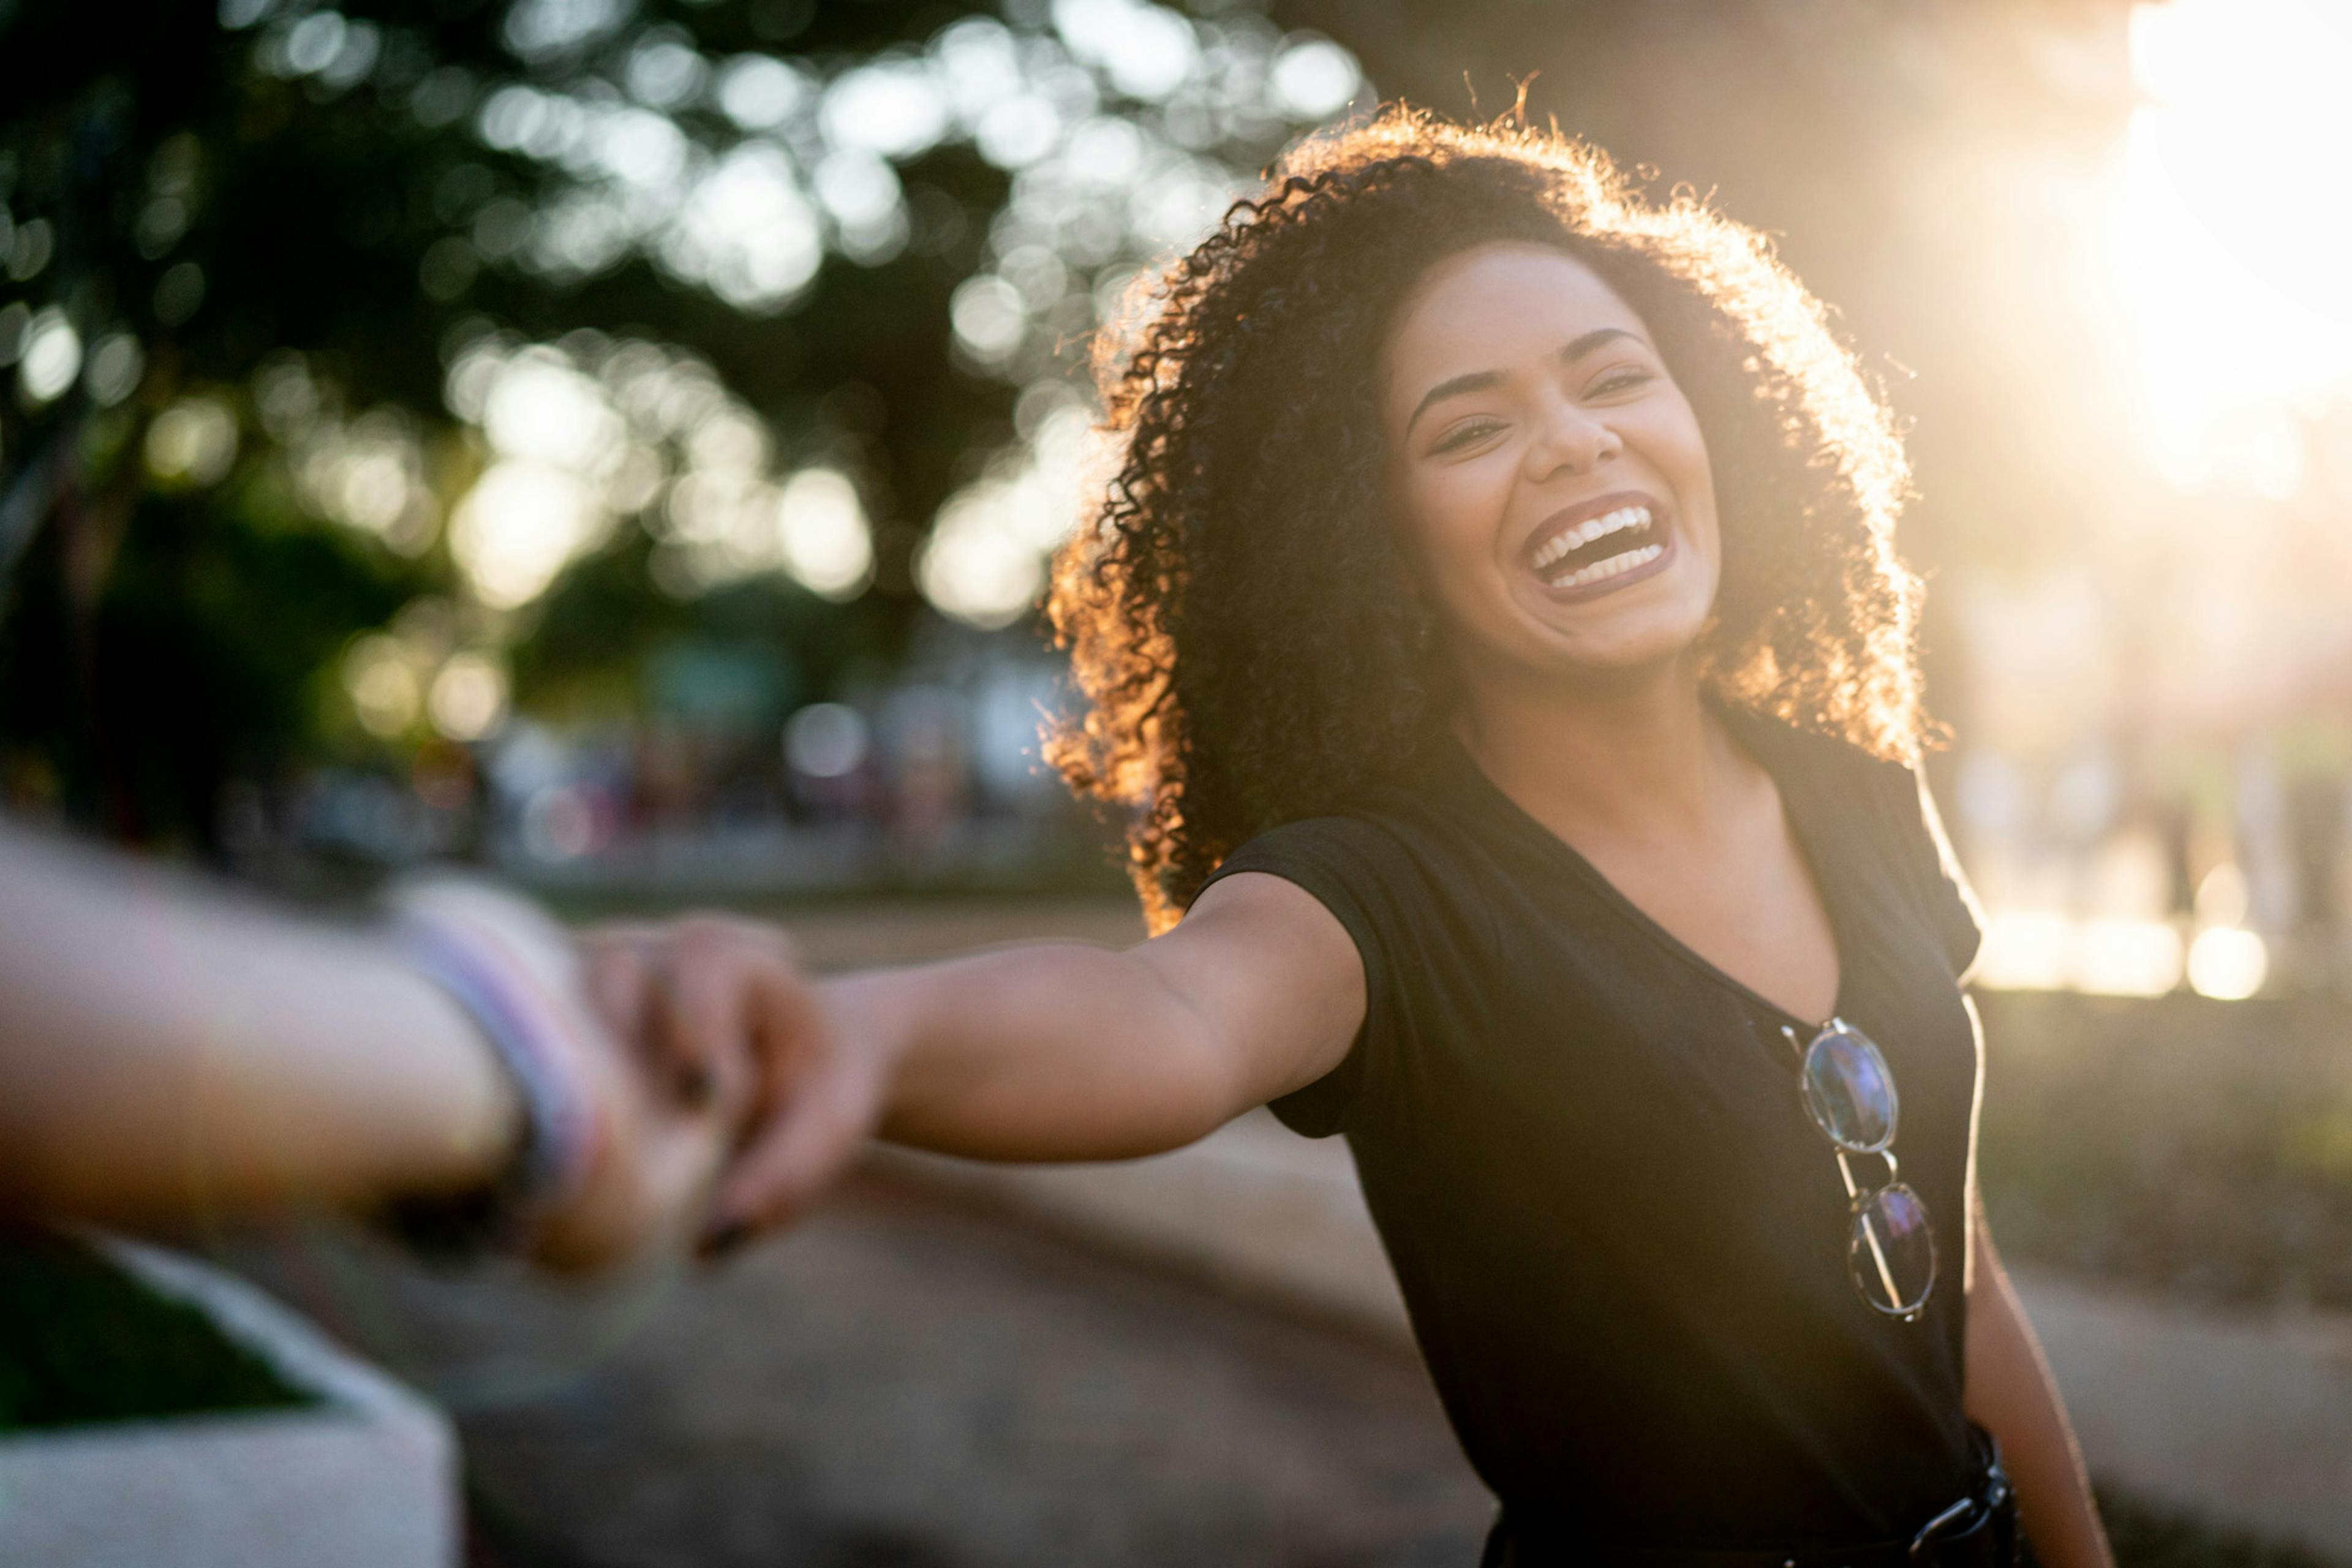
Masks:
[[[1348,1135],[1454,1429],[1526,1540],[1893,1540],[1969,1483],[1973,898],[1910,769],[1722,717],[1813,865],[1837,1016],[1893,1070],[1938,1246],[1910,1324],[1846,1274],[1849,1199],[1778,1034],[1823,1020],[1691,952],[1461,745],[1216,872],[1303,886],[1364,957],[1362,1034],[1275,1114]]]

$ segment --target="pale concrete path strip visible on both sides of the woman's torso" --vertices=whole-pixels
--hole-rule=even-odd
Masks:
[[[1265,1112],[1120,1166],[882,1161],[1409,1342],[1345,1147],[1294,1138]],[[2030,1269],[2016,1284],[2098,1476],[2216,1523],[2352,1552],[2352,1316],[2194,1314]]]

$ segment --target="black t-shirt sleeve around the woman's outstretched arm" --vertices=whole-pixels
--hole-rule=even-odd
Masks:
[[[1378,875],[1378,830],[1350,818],[1315,818],[1258,835],[1232,851],[1209,882],[1268,872],[1305,889],[1348,931],[1364,959],[1364,1025],[1331,1072],[1270,1103],[1275,1117],[1305,1138],[1345,1133],[1376,1072],[1378,1041],[1390,1032],[1390,954],[1378,910],[1388,898]]]

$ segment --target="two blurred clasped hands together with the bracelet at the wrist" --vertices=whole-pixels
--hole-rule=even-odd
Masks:
[[[461,1234],[487,1227],[562,1272],[722,1253],[788,1222],[880,1117],[882,1056],[847,1048],[771,926],[689,917],[574,940],[527,900],[447,879],[397,889],[390,914],[517,1100],[496,1197]]]

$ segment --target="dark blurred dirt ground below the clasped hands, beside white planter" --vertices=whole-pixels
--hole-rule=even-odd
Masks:
[[[240,1251],[452,1406],[473,1568],[1468,1568],[1491,1514],[1397,1349],[884,1180],[595,1302]]]

